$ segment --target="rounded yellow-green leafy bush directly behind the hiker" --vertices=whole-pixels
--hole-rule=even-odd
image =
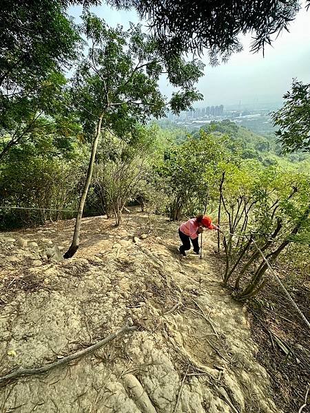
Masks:
[[[200,211],[205,202],[205,194],[214,185],[216,170],[220,162],[237,162],[232,153],[225,148],[225,138],[212,136],[200,131],[200,135],[187,136],[180,145],[167,147],[163,160],[154,166],[159,188],[171,197],[170,218],[176,204],[178,213],[185,207],[191,214]]]

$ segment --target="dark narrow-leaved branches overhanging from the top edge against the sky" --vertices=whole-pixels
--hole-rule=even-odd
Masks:
[[[308,0],[309,1],[309,0]],[[209,50],[211,63],[241,50],[239,34],[250,32],[252,50],[264,49],[271,37],[300,9],[298,0],[107,0],[118,8],[136,8],[147,19],[167,52]]]

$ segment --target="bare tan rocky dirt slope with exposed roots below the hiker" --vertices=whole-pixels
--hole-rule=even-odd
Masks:
[[[176,225],[164,218],[82,225],[79,251],[63,262],[45,250],[67,248],[74,221],[0,234],[0,375],[61,359],[128,320],[138,329],[69,366],[3,383],[0,412],[280,412],[247,314],[220,286],[211,234],[200,260],[178,255]]]

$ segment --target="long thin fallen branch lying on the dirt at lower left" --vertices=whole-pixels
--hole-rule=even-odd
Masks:
[[[73,354],[70,354],[70,356],[66,356],[66,357],[63,357],[63,359],[54,361],[54,363],[45,364],[45,366],[37,367],[37,368],[21,368],[10,374],[6,374],[6,376],[0,377],[0,383],[3,383],[3,381],[10,380],[10,379],[17,379],[18,377],[22,377],[22,376],[32,376],[33,374],[41,374],[41,373],[48,372],[52,370],[53,368],[62,366],[63,364],[70,363],[70,361],[74,359],[78,359],[79,357],[83,357],[85,356],[85,354],[90,354],[91,352],[94,352],[95,350],[98,350],[99,348],[103,347],[106,343],[109,343],[109,341],[116,339],[116,337],[123,334],[124,332],[129,332],[133,330],[136,330],[136,326],[127,326],[127,325],[123,326],[121,330],[113,332],[111,335],[105,337],[105,339],[98,341],[92,346],[89,346],[87,348],[83,348],[83,350],[74,352]]]

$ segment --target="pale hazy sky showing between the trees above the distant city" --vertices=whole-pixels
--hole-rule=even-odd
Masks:
[[[120,23],[138,23],[136,12],[119,12],[107,6],[92,8],[99,17],[115,26]],[[69,9],[69,14],[79,21],[81,6]],[[207,54],[202,58],[205,76],[199,81],[198,89],[204,95],[203,105],[258,105],[260,107],[279,106],[282,95],[290,89],[292,78],[310,83],[310,10],[300,10],[295,21],[289,26],[290,32],[282,32],[272,46],[262,52],[249,52],[251,36],[242,37],[244,50],[234,54],[228,63],[211,67]],[[165,94],[172,91],[167,81],[161,81]]]

